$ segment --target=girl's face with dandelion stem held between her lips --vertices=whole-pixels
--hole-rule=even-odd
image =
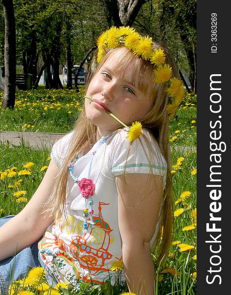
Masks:
[[[94,99],[93,102],[85,99],[86,115],[98,127],[100,136],[121,127],[109,113],[129,125],[144,118],[151,109],[150,97],[133,83],[134,64],[131,63],[124,70],[116,70],[119,54],[119,51],[114,52],[104,62],[86,93]]]

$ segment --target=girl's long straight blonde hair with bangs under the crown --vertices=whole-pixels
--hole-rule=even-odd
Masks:
[[[153,46],[157,49],[161,48],[164,50],[166,60],[172,67],[173,76],[177,76],[176,66],[167,49],[159,43],[153,43]],[[158,263],[168,254],[173,234],[171,150],[169,144],[169,118],[167,114],[168,96],[164,90],[164,83],[157,84],[153,82],[154,65],[142,58],[135,57],[124,46],[119,46],[115,49],[109,50],[98,65],[96,65],[96,59],[92,59],[91,70],[88,72],[86,91],[92,77],[98,72],[102,64],[113,54],[113,52],[118,50],[120,51],[121,56],[116,62],[116,69],[124,71],[124,69],[126,69],[131,62],[134,62],[133,83],[137,85],[139,89],[144,91],[145,94],[151,96],[152,109],[142,120],[140,120],[140,122],[144,128],[149,130],[150,135],[158,143],[159,148],[167,161],[167,178],[161,207],[160,227],[153,248],[153,250],[157,250],[158,248],[158,255],[156,259],[156,263]],[[83,107],[83,111],[76,121],[67,155],[63,159],[60,173],[56,179],[57,185],[55,186],[54,192],[47,204],[50,208],[49,210],[52,214],[54,214],[56,219],[60,218],[63,214],[66,214],[65,197],[67,178],[69,174],[68,164],[78,154],[89,150],[96,140],[97,127],[87,119],[85,107]]]

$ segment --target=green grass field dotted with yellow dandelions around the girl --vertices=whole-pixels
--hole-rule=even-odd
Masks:
[[[0,92],[0,96],[3,92]],[[16,94],[14,110],[0,110],[1,131],[66,133],[81,111],[84,89],[28,90]],[[196,295],[196,95],[188,93],[170,122],[174,194],[174,236],[167,260],[156,267],[156,295]],[[17,214],[36,190],[50,161],[50,150],[0,143],[0,217]],[[155,253],[153,253],[153,259]],[[119,271],[116,269],[115,271]],[[120,295],[126,286],[110,283],[79,290],[63,285],[49,288],[41,269],[11,286],[9,294]],[[27,280],[30,279],[30,284]],[[28,293],[22,293],[23,291]],[[128,294],[128,293],[126,293]]]

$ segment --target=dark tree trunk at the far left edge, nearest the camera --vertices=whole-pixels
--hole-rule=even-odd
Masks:
[[[1,0],[5,22],[4,40],[4,95],[1,108],[14,108],[16,89],[16,37],[13,0]]]

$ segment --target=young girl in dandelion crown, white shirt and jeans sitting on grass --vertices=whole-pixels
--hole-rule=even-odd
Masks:
[[[176,74],[168,51],[135,29],[99,37],[74,130],[54,145],[28,205],[0,220],[10,219],[0,227],[1,287],[14,262],[14,280],[41,265],[53,285],[126,280],[130,292],[154,294],[151,251],[160,262],[172,234],[168,118],[183,98]]]

